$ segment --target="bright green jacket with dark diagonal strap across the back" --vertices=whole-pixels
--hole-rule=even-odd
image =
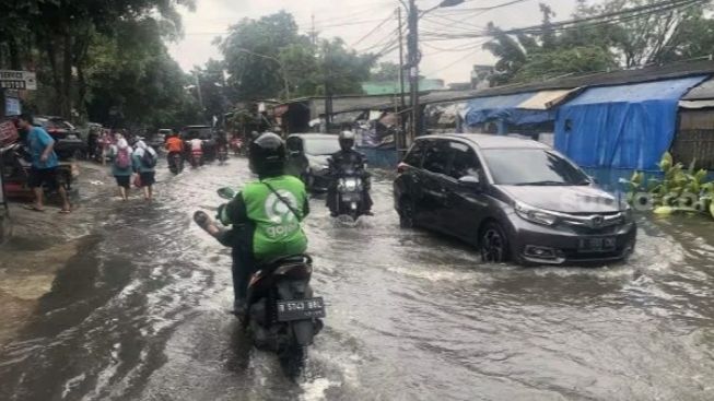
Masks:
[[[280,198],[288,201],[293,210]],[[244,233],[230,237],[249,241],[255,260],[262,262],[307,250],[307,236],[301,223],[308,213],[307,191],[303,181],[293,176],[279,176],[247,184],[222,209],[220,219],[225,225],[233,224],[234,231]]]

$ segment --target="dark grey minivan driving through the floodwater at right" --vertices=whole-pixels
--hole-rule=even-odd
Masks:
[[[460,238],[487,262],[607,262],[635,246],[630,208],[531,140],[422,137],[399,164],[394,194],[402,226]]]

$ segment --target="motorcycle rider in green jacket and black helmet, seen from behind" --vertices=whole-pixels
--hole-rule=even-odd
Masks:
[[[264,133],[250,144],[249,167],[258,180],[246,184],[229,203],[219,207],[220,228],[203,212],[194,219],[224,246],[233,248],[234,312],[246,311],[248,280],[262,263],[305,253],[307,237],[302,222],[309,213],[305,185],[284,174],[285,144],[274,133]]]

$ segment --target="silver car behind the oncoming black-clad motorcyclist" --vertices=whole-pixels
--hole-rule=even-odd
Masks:
[[[328,133],[293,133],[288,137],[288,166],[300,176],[311,191],[326,191],[327,158],[340,150],[337,135]]]

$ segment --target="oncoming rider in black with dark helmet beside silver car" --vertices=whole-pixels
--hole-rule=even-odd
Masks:
[[[342,131],[339,137],[340,151],[333,153],[327,160],[328,177],[330,185],[327,188],[327,208],[330,210],[330,215],[337,217],[338,215],[338,193],[337,184],[339,178],[342,178],[344,172],[354,172],[362,178],[362,200],[363,212],[366,215],[372,215],[372,197],[370,197],[370,173],[366,170],[366,157],[364,154],[355,151],[354,148],[354,132]]]

